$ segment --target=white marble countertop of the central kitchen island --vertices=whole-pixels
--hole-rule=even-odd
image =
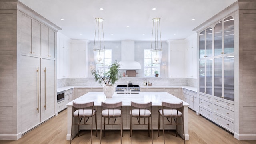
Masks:
[[[95,106],[100,106],[101,102],[114,103],[120,101],[123,102],[123,106],[130,106],[131,101],[139,103],[152,102],[153,106],[161,106],[162,101],[170,103],[179,103],[182,101],[183,106],[189,105],[187,102],[180,100],[168,92],[138,92],[138,94],[118,94],[115,92],[112,98],[106,98],[103,92],[89,92],[73,101],[78,103],[94,101]],[[73,101],[69,102],[67,106],[72,106]]]

